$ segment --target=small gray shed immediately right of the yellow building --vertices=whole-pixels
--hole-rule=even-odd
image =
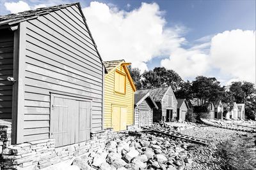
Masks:
[[[134,125],[152,126],[153,125],[153,109],[158,109],[154,99],[150,93],[140,93],[140,90],[134,94]]]

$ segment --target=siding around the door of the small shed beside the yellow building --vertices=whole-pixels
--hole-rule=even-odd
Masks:
[[[134,125],[138,125],[140,127],[140,111],[147,111],[148,113],[148,119],[149,119],[149,124],[148,126],[151,126],[153,124],[153,110],[148,106],[147,101],[143,101],[141,104],[136,106],[134,108]]]

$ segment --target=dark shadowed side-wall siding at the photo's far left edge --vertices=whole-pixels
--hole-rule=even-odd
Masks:
[[[0,30],[0,118],[12,118],[13,32]]]

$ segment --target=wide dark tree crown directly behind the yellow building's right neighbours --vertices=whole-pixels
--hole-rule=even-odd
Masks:
[[[165,67],[155,67],[153,70],[145,71],[142,77],[144,89],[171,86],[173,91],[176,91],[182,82],[179,74]]]

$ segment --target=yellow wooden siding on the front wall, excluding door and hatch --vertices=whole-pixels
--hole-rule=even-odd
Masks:
[[[125,73],[124,67],[118,66],[116,69]],[[111,71],[105,76],[104,82],[104,128],[112,127],[112,114],[111,110],[113,105],[118,105],[127,108],[127,125],[133,124],[133,104],[134,104],[134,91],[132,90],[131,83],[126,75],[126,92],[125,94],[118,94],[115,92],[115,71]],[[124,121],[125,122],[125,121]]]

